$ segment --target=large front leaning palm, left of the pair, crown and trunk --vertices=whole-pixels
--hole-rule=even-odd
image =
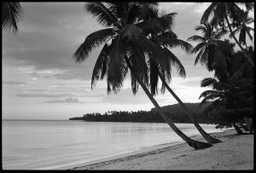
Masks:
[[[138,16],[147,11],[152,3],[86,3],[84,9],[96,17],[96,20],[107,29],[91,33],[85,38],[79,49],[74,53],[76,61],[84,61],[91,49],[105,43],[92,72],[91,87],[96,81],[107,77],[107,92],[117,93],[122,87],[128,70],[131,71],[131,89],[136,94],[138,84],[143,88],[160,116],[174,130],[178,136],[186,141],[190,147],[202,149],[211,147],[209,143],[195,141],[185,136],[181,130],[167,118],[154,96],[148,91],[148,64],[146,58],[156,59],[162,68],[166,64],[165,53],[160,46],[145,37],[146,28],[154,31],[163,29],[161,23],[166,23],[172,17],[168,14],[161,18],[138,22]],[[154,21],[154,22],[152,22]],[[165,22],[162,22],[165,21]],[[152,23],[151,23],[152,22]],[[149,25],[150,24],[150,25]],[[112,26],[112,27],[111,27]],[[154,28],[154,29],[153,29]],[[147,56],[144,56],[147,55]]]

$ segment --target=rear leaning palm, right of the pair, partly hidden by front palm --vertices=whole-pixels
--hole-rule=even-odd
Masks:
[[[151,16],[149,14],[151,14]],[[144,17],[143,20],[150,20],[150,19],[157,18],[159,16],[159,11],[157,9],[153,9],[153,11],[149,14],[146,17]],[[176,14],[176,13],[173,13],[173,14]],[[160,33],[155,33],[155,32],[150,33],[150,39],[154,43],[159,44],[160,47],[163,49],[163,51],[166,51],[166,54],[168,55],[166,56],[166,59],[170,61],[169,63],[171,65],[177,66],[177,72],[181,77],[185,77],[185,70],[183,65],[181,64],[180,61],[178,61],[177,57],[174,54],[172,54],[172,51],[170,51],[168,48],[179,46],[181,47],[181,49],[184,49],[185,51],[190,52],[190,50],[192,49],[191,44],[178,39],[177,35],[174,32],[172,32],[172,27],[168,28],[168,30],[166,31],[161,31]],[[196,129],[199,130],[199,132],[205,138],[205,140],[211,144],[221,142],[220,140],[207,134],[207,132],[201,128],[200,124],[196,122],[193,114],[189,112],[189,109],[183,104],[183,101],[181,101],[178,98],[175,92],[167,84],[167,82],[170,83],[171,81],[171,73],[170,73],[172,71],[171,66],[168,66],[168,69],[165,69],[165,70],[166,70],[165,72],[163,72],[162,70],[159,70],[159,66],[157,62],[154,61],[154,59],[150,61],[149,72],[150,72],[151,93],[153,95],[157,94],[158,78],[160,78],[160,80],[162,81],[161,92],[164,93],[166,88],[172,94],[172,96],[177,100],[180,106],[183,107],[185,113],[189,116],[192,123],[195,124]]]

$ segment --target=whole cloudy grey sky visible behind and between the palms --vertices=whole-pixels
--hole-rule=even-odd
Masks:
[[[118,95],[107,94],[105,80],[90,89],[90,78],[97,55],[94,49],[81,64],[73,53],[91,32],[102,29],[84,3],[20,3],[24,9],[19,31],[3,32],[2,106],[3,119],[68,119],[87,112],[149,111],[153,104],[143,89],[131,92],[131,80],[125,79]],[[166,13],[176,12],[173,31],[186,40],[195,34],[203,11],[209,3],[160,3]],[[192,45],[196,43],[189,42]],[[186,70],[179,78],[175,67],[170,86],[183,102],[199,102],[203,78],[213,77],[204,66],[194,66],[195,55],[172,49]],[[104,78],[105,79],[105,78]],[[160,106],[177,103],[171,94],[155,97]]]

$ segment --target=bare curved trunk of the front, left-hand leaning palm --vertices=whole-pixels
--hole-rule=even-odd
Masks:
[[[130,68],[131,72],[134,73],[131,63],[127,57],[125,57],[125,61],[128,65],[128,67]],[[136,75],[136,73],[134,73],[134,74]],[[185,134],[183,134],[183,132],[181,130],[179,130],[175,124],[172,123],[172,120],[166,116],[166,113],[161,109],[161,107],[158,105],[158,103],[154,100],[153,95],[151,95],[151,93],[148,91],[147,87],[145,86],[145,84],[143,84],[142,80],[140,78],[137,78],[137,75],[136,75],[136,79],[137,79],[137,82],[143,88],[146,95],[148,95],[148,98],[153,103],[156,110],[160,113],[160,116],[166,121],[167,124],[169,124],[169,126],[172,128],[173,131],[175,131],[177,133],[178,136],[180,136],[184,141],[186,141],[189,144],[190,147],[194,147],[195,150],[212,147],[212,144],[210,144],[210,143],[195,141],[195,140],[189,138],[188,136],[186,136]]]

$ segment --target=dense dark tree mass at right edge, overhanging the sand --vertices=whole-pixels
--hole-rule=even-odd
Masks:
[[[201,81],[201,87],[211,87],[212,90],[202,92],[200,98],[204,97],[201,105],[213,100],[207,109],[208,112],[215,109],[213,115],[220,118],[218,126],[228,127],[231,122],[241,134],[236,123],[241,123],[242,118],[253,118],[253,66],[249,65],[241,51],[231,53],[224,56],[225,66],[214,66],[215,78]],[[236,75],[237,72],[239,75]],[[253,126],[249,126],[252,129]]]

